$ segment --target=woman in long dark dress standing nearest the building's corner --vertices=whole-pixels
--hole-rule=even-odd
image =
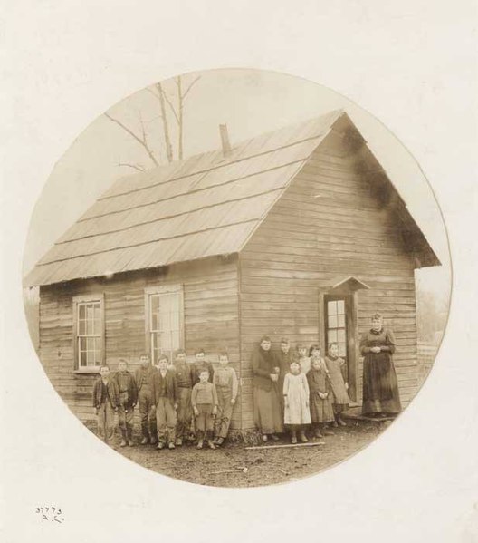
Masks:
[[[271,351],[271,340],[263,336],[253,353],[254,422],[263,441],[267,441],[268,436],[277,440],[275,434],[283,431],[278,382],[279,368]]]

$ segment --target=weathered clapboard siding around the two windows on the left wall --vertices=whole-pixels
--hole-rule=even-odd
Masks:
[[[240,376],[238,276],[235,258],[212,258],[168,267],[166,273],[143,271],[118,278],[74,281],[40,289],[40,357],[54,388],[82,420],[94,418],[92,383],[96,375],[73,372],[73,296],[104,295],[106,361],[129,360],[134,371],[145,351],[145,288],[180,283],[184,287],[185,347],[202,347],[217,360],[227,349]],[[233,428],[240,427],[241,402],[234,407]],[[138,410],[137,410],[138,411]]]

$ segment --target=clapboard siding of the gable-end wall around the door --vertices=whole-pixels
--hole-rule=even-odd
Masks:
[[[243,427],[253,426],[251,355],[263,334],[277,342],[317,343],[319,284],[358,276],[358,331],[385,315],[397,336],[395,362],[403,402],[416,393],[416,297],[413,256],[401,223],[377,198],[356,158],[335,136],[292,180],[240,255]],[[358,364],[358,400],[362,364]]]

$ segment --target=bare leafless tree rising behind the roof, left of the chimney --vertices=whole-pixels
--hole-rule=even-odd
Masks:
[[[186,102],[186,96],[191,91],[193,86],[196,84],[197,81],[201,78],[200,75],[198,75],[192,82],[190,82],[186,86],[186,90],[183,90],[183,80],[182,76],[179,75],[174,79],[175,82],[175,97],[176,97],[176,104],[175,101],[171,99],[165,88],[164,85],[162,85],[160,82],[156,83],[153,87],[148,88],[148,92],[153,94],[155,98],[159,102],[159,109],[160,109],[160,115],[159,118],[162,120],[163,125],[163,137],[164,137],[164,145],[166,149],[166,158],[168,162],[172,162],[175,160],[174,158],[174,150],[171,143],[171,132],[169,127],[169,122],[167,119],[167,107],[169,107],[170,112],[173,115],[174,120],[177,124],[177,159],[181,160],[183,158],[184,154],[184,118],[185,118],[185,102]],[[139,145],[143,148],[143,150],[146,151],[149,160],[153,163],[154,166],[158,166],[160,163],[160,160],[158,159],[157,153],[153,150],[152,145],[150,144],[150,141],[148,141],[148,133],[145,130],[143,119],[139,113],[139,124],[140,124],[140,132],[137,133],[136,131],[133,131],[129,126],[127,126],[124,122],[119,121],[119,119],[113,117],[110,113],[105,113],[105,116],[110,119],[111,122],[114,122],[117,124],[123,131],[126,131],[133,140],[137,141]],[[126,166],[129,168],[132,168],[134,170],[138,171],[144,171],[148,170],[147,167],[143,166],[142,164],[132,164],[129,162],[121,162],[118,163],[119,166]]]

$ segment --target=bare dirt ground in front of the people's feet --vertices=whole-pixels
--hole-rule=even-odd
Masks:
[[[320,443],[313,447],[270,448],[272,444],[288,443],[284,435],[281,441],[267,443],[267,449],[254,450],[245,449],[246,445],[239,442],[225,443],[215,451],[198,451],[194,445],[174,451],[157,451],[151,445],[119,448],[115,444],[113,448],[148,470],[175,479],[213,487],[255,487],[298,480],[325,470],[368,445],[387,426],[387,422],[348,424],[334,428],[334,435],[311,440]]]

